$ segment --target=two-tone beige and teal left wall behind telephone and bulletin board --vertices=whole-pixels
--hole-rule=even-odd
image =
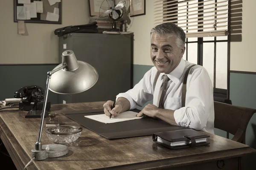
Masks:
[[[0,0],[0,6],[0,100],[13,98],[14,91],[25,85],[45,89],[47,71],[57,65],[59,57],[58,37],[53,31],[88,23],[88,0],[62,0],[61,25],[25,23],[24,35],[17,34],[17,23],[13,22],[13,0]],[[55,104],[57,95],[49,92],[49,99]]]

